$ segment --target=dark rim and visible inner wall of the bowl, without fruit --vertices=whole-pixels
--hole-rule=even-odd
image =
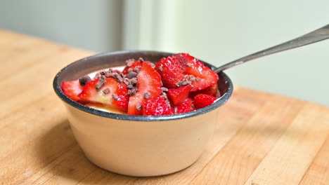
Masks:
[[[105,111],[98,111],[96,109],[86,107],[71,100],[63,93],[60,88],[60,85],[63,81],[77,80],[81,76],[90,74],[93,71],[98,71],[101,69],[106,69],[110,67],[120,67],[125,65],[125,61],[129,59],[138,60],[139,57],[142,57],[144,60],[149,60],[155,63],[158,62],[162,57],[167,57],[169,55],[174,55],[174,53],[164,53],[157,51],[117,51],[112,53],[101,53],[98,55],[93,55],[91,57],[86,57],[81,60],[78,60],[77,62],[73,62],[72,64],[69,64],[67,67],[60,70],[53,80],[53,88],[58,97],[60,97],[60,99],[63,100],[65,103],[70,104],[70,106],[72,107],[75,107],[82,111],[86,111],[90,114],[96,114],[98,116],[131,121],[165,121],[197,116],[199,114],[205,114],[209,111],[217,109],[218,107],[226,103],[229,97],[231,97],[233,92],[233,84],[231,82],[231,79],[228,78],[228,76],[224,74],[224,72],[219,73],[218,85],[219,92],[221,93],[221,97],[219,98],[219,100],[214,102],[214,104],[211,104],[208,107],[202,109],[198,109],[184,114],[174,114],[169,116],[130,116],[125,114],[112,114]],[[208,67],[214,69],[214,66],[212,66],[211,64],[208,64],[207,62],[204,63]]]

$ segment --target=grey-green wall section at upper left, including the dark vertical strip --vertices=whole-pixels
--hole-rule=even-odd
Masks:
[[[98,52],[120,50],[120,0],[4,0],[0,28]]]

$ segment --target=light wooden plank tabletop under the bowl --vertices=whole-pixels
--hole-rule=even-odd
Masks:
[[[0,184],[321,184],[329,181],[329,108],[235,86],[191,167],[127,177],[86,159],[52,89],[92,52],[0,30]]]

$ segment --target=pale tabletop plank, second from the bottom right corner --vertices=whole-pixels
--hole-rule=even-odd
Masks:
[[[306,104],[245,184],[298,184],[328,135],[328,120],[329,111]]]

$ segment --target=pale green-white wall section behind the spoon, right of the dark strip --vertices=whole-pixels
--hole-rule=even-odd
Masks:
[[[138,2],[139,8],[150,6],[147,0]],[[328,0],[157,0],[151,6],[153,17],[140,13],[144,26],[135,28],[147,31],[126,48],[186,52],[217,66],[329,24]],[[329,105],[328,61],[329,40],[226,73],[238,85]]]

